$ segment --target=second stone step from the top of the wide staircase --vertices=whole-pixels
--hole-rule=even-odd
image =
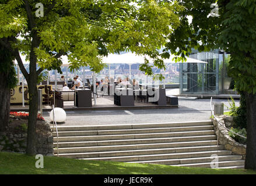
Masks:
[[[91,130],[91,131],[58,131],[59,137],[85,136],[85,135],[117,135],[117,134],[149,134],[149,133],[171,133],[183,131],[213,130],[213,126],[189,126],[189,127],[166,127],[166,128],[140,128],[126,130]],[[57,133],[52,133],[57,137]]]

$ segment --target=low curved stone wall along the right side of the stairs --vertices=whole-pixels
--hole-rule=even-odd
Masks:
[[[222,123],[223,126],[230,128],[233,126],[232,116],[216,116],[217,119]],[[219,145],[224,145],[226,150],[232,151],[234,155],[242,155],[243,159],[246,158],[246,145],[236,142],[232,137],[229,136],[229,131],[220,125],[216,119],[213,119],[213,126],[215,134],[218,135],[219,126]]]

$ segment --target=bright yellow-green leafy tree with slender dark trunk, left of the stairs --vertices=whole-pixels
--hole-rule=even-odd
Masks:
[[[60,58],[67,55],[71,70],[90,66],[97,73],[107,53],[156,53],[178,26],[182,9],[176,2],[153,0],[1,0],[0,42],[15,56],[29,87],[27,153],[35,153],[36,85],[44,69],[61,73]]]

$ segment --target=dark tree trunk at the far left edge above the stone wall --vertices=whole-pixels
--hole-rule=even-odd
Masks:
[[[0,71],[0,131],[6,131],[10,115],[10,89],[7,84],[8,74]]]

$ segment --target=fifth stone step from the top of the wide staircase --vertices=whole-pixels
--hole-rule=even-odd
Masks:
[[[76,144],[77,142],[73,142]],[[131,144],[131,145],[106,145],[106,146],[79,146],[62,148],[59,144],[59,153],[78,153],[78,152],[103,152],[103,151],[128,151],[137,149],[159,149],[159,148],[181,148],[192,146],[206,146],[216,145],[217,140],[206,141],[185,141],[185,142],[165,142],[156,144]],[[65,146],[72,145],[72,142],[66,143]],[[57,149],[54,149],[54,153],[57,153]]]

